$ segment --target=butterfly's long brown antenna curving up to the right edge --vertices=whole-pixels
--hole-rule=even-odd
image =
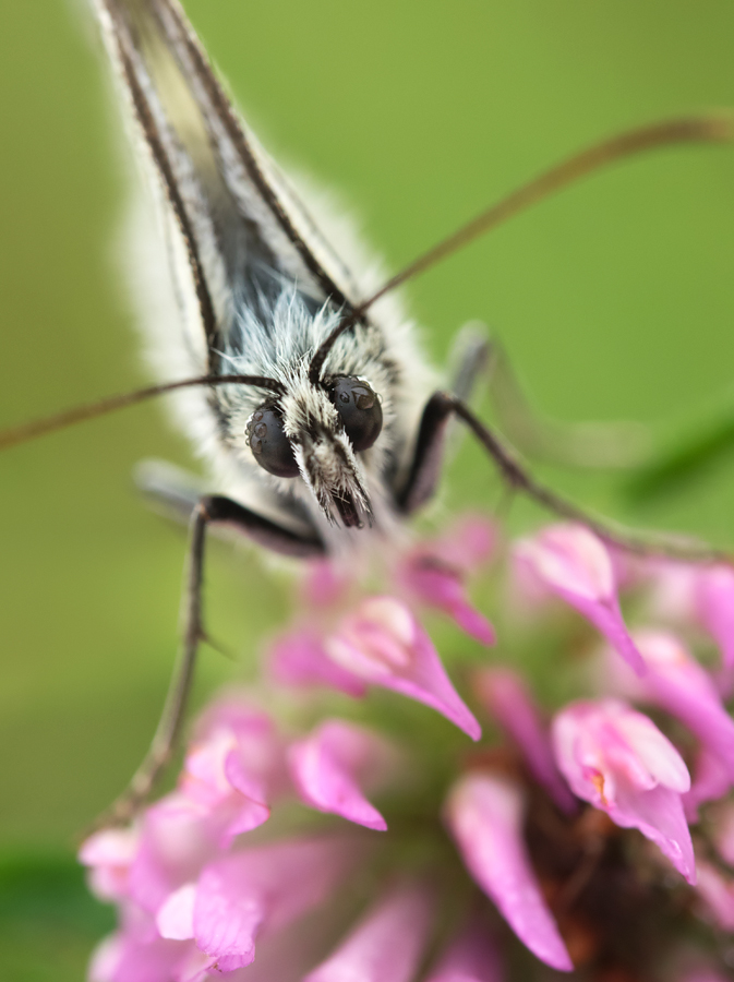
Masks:
[[[491,205],[453,235],[442,239],[441,242],[419,255],[412,263],[388,279],[376,294],[356,307],[317,349],[311,361],[309,378],[314,384],[318,382],[324,362],[337,338],[353,327],[373,303],[531,205],[538,204],[602,167],[643,151],[686,143],[729,143],[732,140],[734,140],[734,113],[722,110],[684,116],[626,130],[624,133],[595,143],[561,164],[556,164],[555,167]]]

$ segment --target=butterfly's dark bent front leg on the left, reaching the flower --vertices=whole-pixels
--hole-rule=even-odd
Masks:
[[[196,652],[200,643],[206,640],[202,587],[206,532],[210,525],[230,526],[258,544],[286,555],[308,558],[321,555],[324,551],[317,539],[301,538],[229,498],[207,495],[200,499],[191,517],[191,542],[181,607],[181,644],[160,720],[145,759],[127,790],[100,817],[97,827],[128,822],[147,799],[176,750],[193,681]]]

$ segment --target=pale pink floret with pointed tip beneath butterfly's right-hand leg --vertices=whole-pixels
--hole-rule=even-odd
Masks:
[[[546,589],[591,621],[638,674],[645,673],[645,661],[619,610],[612,559],[601,539],[582,525],[552,525],[532,539],[521,539],[515,558]]]

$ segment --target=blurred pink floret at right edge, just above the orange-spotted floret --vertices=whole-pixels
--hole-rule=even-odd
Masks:
[[[640,631],[635,638],[649,672],[641,680],[633,680],[621,669],[617,685],[685,723],[719,757],[734,780],[734,720],[706,670],[673,634]]]

